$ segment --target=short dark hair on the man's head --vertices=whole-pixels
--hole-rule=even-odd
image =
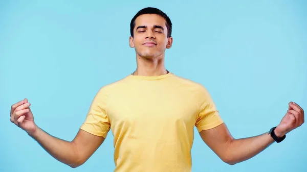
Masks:
[[[166,28],[167,28],[167,37],[171,36],[171,21],[169,19],[169,17],[161,10],[159,10],[158,8],[153,8],[153,7],[147,7],[147,8],[143,8],[142,10],[140,10],[132,19],[130,22],[130,35],[133,37],[133,30],[135,28],[135,20],[138,16],[143,15],[143,14],[158,14],[161,17],[163,17],[166,20]]]

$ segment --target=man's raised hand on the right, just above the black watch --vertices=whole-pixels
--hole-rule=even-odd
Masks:
[[[298,104],[290,102],[286,115],[283,116],[279,125],[275,129],[275,134],[280,138],[290,131],[298,128],[303,123],[304,110]]]

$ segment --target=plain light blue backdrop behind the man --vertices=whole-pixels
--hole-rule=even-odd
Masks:
[[[73,169],[10,122],[25,97],[35,121],[71,141],[98,89],[136,69],[129,22],[144,7],[173,22],[165,65],[203,84],[235,138],[277,126],[294,101],[307,109],[306,1],[1,1],[0,171],[113,171],[113,136]],[[195,130],[192,171],[305,171],[306,124],[234,166]]]

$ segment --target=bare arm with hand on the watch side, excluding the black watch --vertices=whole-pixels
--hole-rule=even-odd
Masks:
[[[295,103],[290,103],[287,114],[275,129],[275,134],[282,137],[303,123],[303,109]],[[231,165],[254,157],[274,142],[274,139],[268,133],[234,139],[225,124],[213,129],[203,130],[200,132],[200,136],[218,157]]]

